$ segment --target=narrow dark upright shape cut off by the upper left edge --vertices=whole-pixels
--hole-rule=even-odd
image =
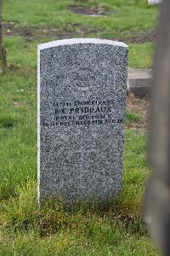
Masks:
[[[3,47],[3,19],[2,19],[2,8],[3,8],[3,0],[0,0],[0,67],[7,67],[7,56],[6,50]]]

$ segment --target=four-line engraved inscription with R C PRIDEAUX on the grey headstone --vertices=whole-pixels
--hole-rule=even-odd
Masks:
[[[92,100],[74,102],[49,102],[50,121],[43,121],[45,128],[72,125],[123,124],[117,116],[113,100]]]

